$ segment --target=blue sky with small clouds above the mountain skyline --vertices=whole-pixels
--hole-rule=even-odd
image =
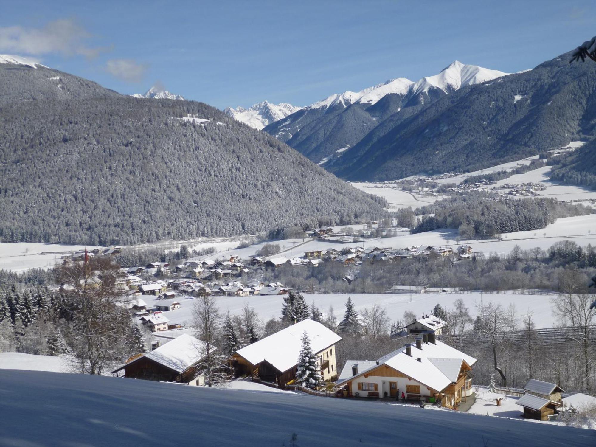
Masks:
[[[454,60],[504,72],[596,35],[594,1],[0,0],[0,54],[116,91],[307,105]]]

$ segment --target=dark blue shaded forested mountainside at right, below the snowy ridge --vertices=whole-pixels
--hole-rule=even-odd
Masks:
[[[468,86],[408,119],[387,118],[325,165],[350,180],[476,170],[595,135],[596,64],[570,54],[535,69]]]

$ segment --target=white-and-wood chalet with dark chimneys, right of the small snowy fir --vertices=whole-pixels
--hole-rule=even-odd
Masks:
[[[476,359],[437,341],[434,334],[424,334],[416,337],[415,344],[406,344],[372,366],[368,361],[352,362],[350,377],[336,384],[348,396],[395,399],[403,392],[409,401],[457,408],[467,399],[467,373]]]

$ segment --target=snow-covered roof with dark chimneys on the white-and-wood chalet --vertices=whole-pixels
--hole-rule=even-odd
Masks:
[[[439,341],[436,341],[435,344],[423,343],[422,349],[418,349],[415,344],[412,344],[411,353],[412,356],[407,355],[406,347],[402,346],[398,350],[378,359],[378,364],[387,365],[408,377],[412,377],[421,384],[431,387],[434,390],[442,391],[453,381],[457,380],[457,375],[455,375],[455,380],[453,380],[454,374],[452,373],[457,362],[461,365],[461,361],[465,361],[470,367],[476,363],[476,359],[472,356]],[[418,358],[420,358],[420,362]],[[376,362],[368,370],[358,371],[357,375],[348,377],[338,382],[337,385],[342,385],[374,368],[377,368]]]

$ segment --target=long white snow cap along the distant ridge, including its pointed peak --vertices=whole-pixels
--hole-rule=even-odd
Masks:
[[[382,84],[365,88],[359,92],[346,91],[339,95],[333,94],[306,108],[328,108],[335,105],[347,107],[354,103],[372,105],[390,93],[413,96],[427,92],[433,88],[438,88],[448,93],[461,87],[486,82],[508,74],[499,72],[499,70],[489,70],[476,65],[462,64],[460,61],[454,61],[448,67],[441,70],[438,75],[425,76],[417,82],[412,82],[405,77],[398,77]]]

